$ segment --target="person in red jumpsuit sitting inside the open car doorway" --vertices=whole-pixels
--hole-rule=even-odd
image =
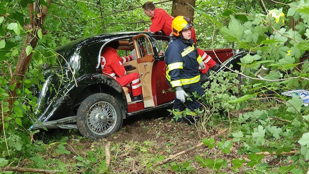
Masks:
[[[132,60],[132,55],[120,57],[117,53],[119,46],[118,41],[108,43],[101,52],[101,67],[103,73],[107,73],[114,77],[122,87],[128,87],[132,94],[132,102],[142,99],[142,84],[139,74],[134,72],[127,74],[125,67],[122,65],[125,62]]]

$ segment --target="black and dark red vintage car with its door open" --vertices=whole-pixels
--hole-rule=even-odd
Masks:
[[[102,73],[101,51],[113,41],[119,41],[117,50],[121,56],[136,50],[137,60],[124,65],[128,74],[140,74],[142,101],[132,102],[126,87]],[[100,139],[121,128],[123,119],[131,115],[172,105],[175,94],[165,81],[164,54],[158,55],[168,43],[169,37],[161,33],[121,32],[82,38],[60,46],[56,49],[58,64],[45,69],[45,82],[35,112],[38,121],[32,129],[78,129],[83,136]],[[234,54],[232,49],[215,52],[226,64],[235,64],[243,56],[228,59]]]

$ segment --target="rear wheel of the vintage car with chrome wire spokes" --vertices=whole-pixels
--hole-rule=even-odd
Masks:
[[[116,98],[95,93],[82,101],[77,110],[77,128],[85,137],[101,139],[118,131],[123,123],[122,111]]]

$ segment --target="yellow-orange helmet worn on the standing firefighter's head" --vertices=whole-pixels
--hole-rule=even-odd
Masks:
[[[191,22],[189,18],[184,17],[184,16],[177,16],[172,21],[172,25],[171,25],[172,33],[174,36],[179,36],[180,31],[191,28],[192,26],[193,26],[193,23]]]

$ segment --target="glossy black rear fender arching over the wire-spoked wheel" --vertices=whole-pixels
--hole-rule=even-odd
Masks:
[[[121,105],[123,118],[127,116],[127,99],[119,83],[106,74],[87,74],[72,81],[65,89],[61,89],[61,97],[56,98],[39,114],[40,122],[59,120],[75,116],[80,103],[94,93],[108,93],[114,96]]]

